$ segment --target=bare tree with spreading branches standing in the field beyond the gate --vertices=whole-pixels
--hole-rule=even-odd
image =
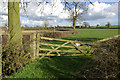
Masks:
[[[75,26],[78,18],[81,17],[82,14],[86,13],[88,8],[85,2],[80,1],[65,1],[65,7],[70,12],[70,18],[73,22],[73,30],[75,31]],[[89,1],[89,0],[88,0]],[[90,1],[89,1],[90,2]],[[92,2],[90,2],[92,4]],[[93,4],[92,4],[93,5]]]

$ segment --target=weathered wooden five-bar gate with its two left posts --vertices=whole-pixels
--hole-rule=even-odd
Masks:
[[[94,53],[92,43],[42,37],[40,33],[33,33],[31,38],[33,40],[32,46],[34,47],[34,57],[90,56]],[[80,46],[78,47],[76,44],[79,44]]]

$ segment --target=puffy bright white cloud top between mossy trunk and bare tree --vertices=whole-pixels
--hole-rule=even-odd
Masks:
[[[36,2],[31,2],[26,8],[29,19],[43,20],[43,19],[65,19],[68,18],[69,13],[64,9],[61,0],[53,0],[51,3],[41,3],[39,6]],[[24,14],[23,14],[24,13]],[[21,16],[26,16],[25,11],[21,10]]]

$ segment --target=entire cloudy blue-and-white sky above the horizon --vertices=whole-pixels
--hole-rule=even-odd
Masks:
[[[77,25],[82,24],[83,21],[89,22],[92,26],[96,24],[104,26],[107,22],[110,22],[112,25],[118,25],[118,14],[120,12],[118,11],[117,2],[98,2],[94,0],[93,4],[94,6],[88,4],[88,12],[83,15],[84,20],[78,21]],[[52,26],[72,26],[72,22],[69,20],[70,14],[64,8],[61,0],[51,0],[51,3],[42,3],[40,5],[37,2],[30,2],[26,8],[28,16],[26,16],[23,7],[20,7],[21,25],[33,27],[42,25],[43,20],[48,20]],[[7,3],[0,2],[0,26],[8,23],[7,15]]]

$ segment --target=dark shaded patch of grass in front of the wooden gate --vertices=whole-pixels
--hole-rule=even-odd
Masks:
[[[38,60],[43,66],[37,65],[36,68],[42,68],[46,72],[46,76],[50,77],[48,74],[54,76],[55,78],[81,78],[81,75],[76,75],[77,71],[80,69],[85,70],[84,65],[91,59],[87,56],[79,57],[52,57],[50,59]]]

